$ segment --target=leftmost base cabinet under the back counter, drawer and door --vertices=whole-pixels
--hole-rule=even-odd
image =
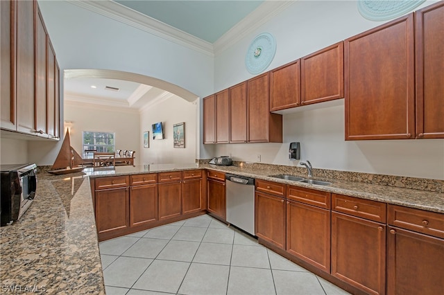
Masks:
[[[129,226],[129,177],[95,179],[96,226],[101,235],[118,235]]]

